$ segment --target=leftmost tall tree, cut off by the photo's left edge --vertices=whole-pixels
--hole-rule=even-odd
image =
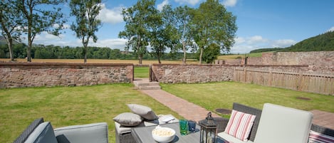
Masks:
[[[9,57],[14,61],[13,41],[19,41],[21,36],[22,13],[9,0],[0,1],[0,29],[9,48]]]

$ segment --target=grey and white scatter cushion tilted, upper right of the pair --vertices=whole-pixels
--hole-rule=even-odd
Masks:
[[[158,118],[150,107],[137,104],[128,104],[127,107],[129,107],[133,113],[140,115],[146,120],[156,120]]]

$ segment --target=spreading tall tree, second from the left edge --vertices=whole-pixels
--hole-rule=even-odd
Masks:
[[[66,22],[61,4],[66,0],[21,0],[12,1],[23,13],[22,28],[27,33],[27,61],[31,62],[31,46],[36,35],[43,31],[55,36],[60,34]]]

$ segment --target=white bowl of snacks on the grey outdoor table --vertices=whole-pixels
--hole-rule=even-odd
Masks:
[[[156,142],[172,142],[175,137],[175,131],[174,129],[171,129],[169,127],[156,127],[152,130],[152,137],[155,139]]]

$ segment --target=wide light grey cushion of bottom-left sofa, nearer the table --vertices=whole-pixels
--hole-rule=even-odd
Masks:
[[[58,143],[108,143],[108,125],[106,122],[74,125],[54,129]]]

